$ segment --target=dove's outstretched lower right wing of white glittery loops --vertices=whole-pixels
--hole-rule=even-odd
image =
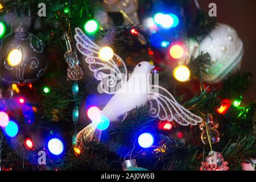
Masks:
[[[158,117],[162,121],[176,121],[180,125],[197,125],[202,122],[202,118],[191,113],[181,106],[168,90],[159,85],[151,85],[148,98],[150,110],[153,117]]]

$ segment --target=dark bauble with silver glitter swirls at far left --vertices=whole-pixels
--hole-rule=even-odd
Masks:
[[[14,34],[0,40],[0,77],[10,83],[26,84],[43,76],[47,67],[42,40],[17,28]]]

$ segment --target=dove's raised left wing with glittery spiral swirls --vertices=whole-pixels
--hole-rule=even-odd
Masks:
[[[79,52],[85,56],[85,62],[89,64],[89,69],[94,73],[94,77],[100,80],[100,87],[104,93],[114,94],[127,81],[127,68],[121,57],[114,53],[109,61],[102,61],[98,57],[98,52],[102,47],[95,44],[82,32],[76,28],[75,40]],[[123,68],[122,72],[119,67]]]

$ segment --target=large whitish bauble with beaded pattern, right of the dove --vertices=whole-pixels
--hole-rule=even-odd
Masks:
[[[200,38],[197,38],[200,40]],[[230,73],[240,68],[243,43],[236,30],[226,24],[217,24],[207,37],[196,42],[195,39],[186,41],[187,52],[180,63],[187,64],[191,58],[200,52],[209,53],[211,66],[203,73],[203,80],[210,84],[222,81]]]

